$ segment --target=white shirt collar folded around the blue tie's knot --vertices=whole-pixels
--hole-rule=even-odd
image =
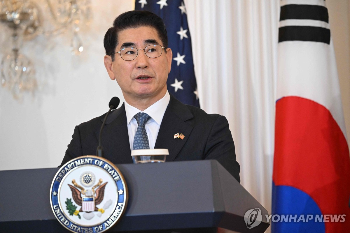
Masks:
[[[158,100],[148,108],[146,108],[143,112],[147,113],[149,116],[152,117],[152,119],[160,125],[162,123],[162,119],[165,113],[165,110],[168,107],[170,101],[170,95],[167,90],[165,95],[162,99]],[[138,112],[142,112],[139,109],[131,106],[125,101],[125,112],[126,112],[126,122],[129,124],[132,118],[137,114]]]

